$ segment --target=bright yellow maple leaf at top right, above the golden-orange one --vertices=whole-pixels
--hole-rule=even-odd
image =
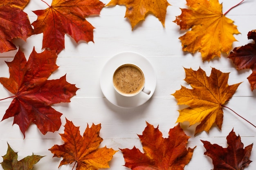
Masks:
[[[239,34],[234,21],[222,13],[222,4],[218,0],[186,0],[190,9],[181,9],[181,15],[173,21],[180,29],[191,29],[179,39],[182,50],[195,53],[199,51],[202,60],[220,57],[221,52],[229,53],[234,34]]]

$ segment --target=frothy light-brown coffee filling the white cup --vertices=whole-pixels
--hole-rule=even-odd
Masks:
[[[128,95],[136,94],[144,87],[144,74],[133,64],[124,64],[117,68],[113,75],[113,84],[120,92]]]

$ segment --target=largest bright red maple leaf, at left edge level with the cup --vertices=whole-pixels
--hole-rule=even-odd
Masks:
[[[14,94],[11,96],[14,99],[2,120],[14,117],[13,124],[18,124],[24,137],[31,123],[36,124],[43,134],[58,130],[62,114],[51,105],[70,102],[70,98],[76,95],[78,88],[66,82],[65,75],[60,79],[47,80],[58,68],[56,58],[54,51],[46,50],[38,54],[33,49],[26,61],[19,49],[13,61],[6,62],[10,77],[0,77],[0,83]]]

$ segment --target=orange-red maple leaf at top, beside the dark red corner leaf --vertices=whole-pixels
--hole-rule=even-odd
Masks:
[[[66,33],[76,42],[93,41],[94,27],[85,17],[99,14],[103,7],[99,0],[53,0],[49,8],[33,11],[38,16],[32,23],[34,32],[43,33],[43,48],[57,53],[65,48]]]

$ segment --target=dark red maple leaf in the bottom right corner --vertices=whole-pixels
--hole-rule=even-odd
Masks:
[[[244,148],[240,136],[236,136],[233,130],[227,136],[227,148],[211,144],[209,141],[202,141],[202,143],[206,149],[204,155],[211,157],[213,161],[213,170],[243,170],[252,162],[249,157],[253,144]]]

